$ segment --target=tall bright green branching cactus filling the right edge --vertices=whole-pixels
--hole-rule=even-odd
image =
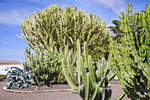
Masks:
[[[150,3],[141,13],[121,12],[121,43],[111,40],[112,67],[128,97],[150,99]]]

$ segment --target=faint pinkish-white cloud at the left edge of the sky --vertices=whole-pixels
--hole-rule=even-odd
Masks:
[[[29,13],[23,10],[0,11],[0,23],[20,24]]]

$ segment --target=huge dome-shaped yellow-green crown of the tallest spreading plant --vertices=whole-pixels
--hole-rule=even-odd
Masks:
[[[76,49],[76,41],[87,41],[88,52],[94,60],[107,56],[109,31],[105,22],[95,14],[87,16],[84,11],[58,5],[30,15],[21,24],[22,37],[31,48],[37,45],[47,51],[53,48]]]

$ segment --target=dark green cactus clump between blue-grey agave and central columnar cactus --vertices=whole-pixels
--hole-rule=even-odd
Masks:
[[[59,55],[55,49],[53,52],[43,53],[42,49],[36,48],[33,55],[30,48],[26,48],[26,61],[24,67],[29,71],[33,82],[38,85],[51,85],[64,80],[61,74]]]

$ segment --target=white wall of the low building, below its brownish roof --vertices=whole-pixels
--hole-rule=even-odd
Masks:
[[[18,67],[20,69],[23,69],[23,65],[0,65],[0,74],[2,75],[6,75],[8,70],[11,68],[11,67]]]

